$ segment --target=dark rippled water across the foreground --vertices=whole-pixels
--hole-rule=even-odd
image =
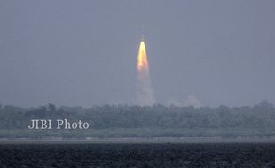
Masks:
[[[275,143],[6,144],[0,167],[275,167]]]

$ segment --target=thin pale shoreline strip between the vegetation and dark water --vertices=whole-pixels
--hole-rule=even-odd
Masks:
[[[86,144],[86,143],[275,143],[275,138],[220,138],[220,137],[151,137],[151,138],[94,138],[86,139],[0,139],[2,144]]]

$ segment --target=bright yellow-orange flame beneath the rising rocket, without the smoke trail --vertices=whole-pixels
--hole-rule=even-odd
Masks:
[[[147,70],[149,68],[144,41],[141,41],[139,45],[137,68],[138,71]]]

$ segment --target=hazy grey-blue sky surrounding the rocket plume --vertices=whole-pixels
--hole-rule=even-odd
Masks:
[[[273,0],[0,1],[0,104],[133,104],[145,37],[157,103],[275,103]]]

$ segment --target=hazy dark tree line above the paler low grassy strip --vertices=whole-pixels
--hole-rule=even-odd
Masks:
[[[177,107],[156,104],[148,107],[103,105],[91,108],[56,107],[53,104],[37,108],[0,106],[0,130],[27,129],[31,119],[62,119],[90,122],[93,129],[109,128],[171,128],[228,129],[275,128],[275,108],[263,101],[253,107],[216,108]]]

